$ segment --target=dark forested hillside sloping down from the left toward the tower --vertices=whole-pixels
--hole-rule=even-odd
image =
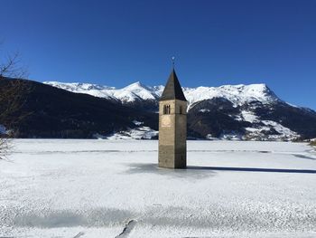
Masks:
[[[1,94],[12,90],[12,81],[0,80]],[[135,120],[157,129],[152,113],[36,81],[21,82],[23,90],[16,91],[20,94],[19,109],[5,116],[0,114],[0,124],[12,130],[15,138],[93,138],[97,133],[133,129]],[[9,95],[7,101],[11,98],[14,95]],[[5,107],[0,105],[2,110]]]

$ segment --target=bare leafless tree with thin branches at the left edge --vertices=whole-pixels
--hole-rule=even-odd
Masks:
[[[27,74],[21,66],[20,54],[18,52],[7,55],[3,62],[0,62],[0,81],[8,81],[9,83],[9,87],[6,87],[0,93],[0,119],[5,119],[23,106],[21,91],[26,90],[26,85],[21,79],[25,79],[26,77]],[[6,128],[10,128],[11,125],[6,124],[5,126]],[[12,144],[9,133],[1,134],[0,131],[0,159],[5,158],[11,148]]]

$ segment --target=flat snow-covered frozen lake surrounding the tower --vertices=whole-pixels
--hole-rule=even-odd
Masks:
[[[286,142],[14,140],[0,161],[0,237],[316,237],[316,153]]]

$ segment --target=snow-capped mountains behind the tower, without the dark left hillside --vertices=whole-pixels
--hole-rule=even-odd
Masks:
[[[145,86],[139,81],[122,89],[89,83],[44,83],[147,111],[157,111],[164,89],[163,86]],[[316,134],[315,111],[280,100],[264,83],[182,90],[189,103],[191,138],[293,140]]]

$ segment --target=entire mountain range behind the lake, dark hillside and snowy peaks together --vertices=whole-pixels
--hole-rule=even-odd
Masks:
[[[13,80],[1,80],[0,90],[10,88],[10,81]],[[162,85],[145,86],[138,81],[116,89],[77,82],[23,83],[28,90],[19,92],[23,99],[19,110],[5,117],[0,115],[0,124],[14,131],[16,138],[158,136],[157,111]],[[286,103],[265,84],[182,90],[188,100],[188,138],[316,138],[316,112]],[[0,101],[0,109],[4,107]]]

